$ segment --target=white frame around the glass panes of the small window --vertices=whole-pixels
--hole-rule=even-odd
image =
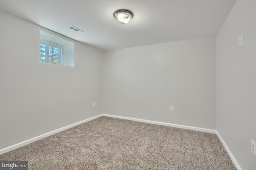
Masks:
[[[49,46],[50,47],[54,47],[56,49],[59,49],[59,65],[62,65],[62,61],[64,61],[64,46],[51,42],[51,41],[47,41],[45,39],[40,39],[40,44],[44,44],[46,47],[46,52],[45,52],[45,63],[49,63]],[[53,55],[53,54],[52,54]],[[54,60],[52,58],[52,64],[54,64]]]

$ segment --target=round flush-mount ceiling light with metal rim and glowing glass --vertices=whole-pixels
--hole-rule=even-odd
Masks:
[[[118,22],[122,23],[123,25],[128,23],[133,18],[133,13],[130,10],[125,9],[116,10],[113,15],[114,18],[116,18],[116,20],[118,20]]]

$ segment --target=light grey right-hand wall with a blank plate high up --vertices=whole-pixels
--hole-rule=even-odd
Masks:
[[[250,140],[256,141],[255,9],[255,0],[238,0],[216,39],[216,129],[243,170],[256,169],[250,151]]]

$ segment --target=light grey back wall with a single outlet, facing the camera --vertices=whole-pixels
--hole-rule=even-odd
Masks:
[[[215,45],[207,37],[104,52],[103,113],[215,129]]]

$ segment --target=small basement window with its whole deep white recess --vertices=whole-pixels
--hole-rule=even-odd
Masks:
[[[40,31],[39,61],[74,67],[74,43]]]

